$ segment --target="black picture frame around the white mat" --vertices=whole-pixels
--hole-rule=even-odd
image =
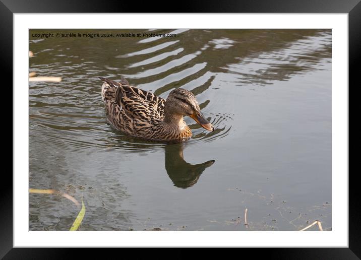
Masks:
[[[13,86],[13,14],[14,13],[347,13],[349,35],[349,86],[356,87],[359,74],[357,64],[361,57],[361,0],[246,0],[246,1],[197,1],[181,2],[177,8],[155,5],[154,2],[117,2],[107,0],[0,0],[1,72]],[[357,70],[357,71],[356,71]],[[9,85],[8,85],[9,86]],[[14,98],[14,97],[13,97]],[[13,100],[13,99],[12,99]],[[13,126],[12,126],[13,127]],[[12,129],[14,131],[14,129]],[[8,133],[9,131],[7,131]],[[14,136],[13,136],[14,139]],[[10,154],[10,153],[9,153]],[[348,174],[345,172],[344,174]],[[0,200],[0,257],[22,258],[68,258],[69,248],[13,248],[13,178],[3,173]],[[253,257],[267,253],[278,259],[359,259],[360,213],[356,194],[356,173],[349,174],[349,247],[348,248],[267,248],[252,250]],[[124,250],[124,249],[122,249]],[[83,250],[85,251],[85,250]],[[86,250],[92,253],[92,250]],[[213,254],[211,250],[210,252]],[[173,256],[182,258],[184,253]],[[139,255],[138,255],[139,256]]]

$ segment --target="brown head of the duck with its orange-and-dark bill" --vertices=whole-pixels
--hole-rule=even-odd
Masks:
[[[186,89],[173,89],[165,101],[164,112],[175,115],[190,116],[203,128],[214,131],[213,125],[204,117],[196,97]]]

